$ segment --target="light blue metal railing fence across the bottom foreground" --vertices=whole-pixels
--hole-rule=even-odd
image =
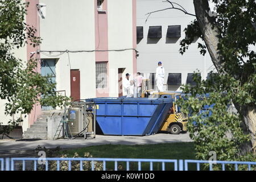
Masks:
[[[43,170],[49,171],[52,168],[49,166],[49,163],[55,163],[56,171],[60,171],[61,167],[65,165],[68,171],[72,170],[72,167],[76,165],[76,169],[80,171],[84,170],[84,164],[87,162],[89,164],[90,170],[96,170],[98,164],[100,164],[100,169],[106,171],[110,168],[108,166],[112,166],[115,171],[120,170],[119,166],[120,163],[125,163],[125,166],[121,170],[129,171],[131,168],[131,163],[133,163],[133,170],[150,170],[154,171],[154,165],[157,166],[158,169],[156,170],[174,170],[174,171],[188,171],[190,170],[197,170],[200,171],[203,164],[209,165],[209,170],[212,171],[214,165],[221,166],[221,169],[218,170],[225,171],[227,168],[226,166],[233,165],[234,170],[238,171],[239,166],[246,167],[245,170],[251,171],[251,169],[256,168],[256,162],[238,162],[238,161],[212,161],[209,162],[208,160],[176,160],[176,159],[112,159],[112,158],[6,158],[1,159],[1,171],[16,171],[16,170],[32,170],[37,171],[38,167],[44,167]],[[75,164],[74,164],[75,162]],[[43,164],[42,164],[43,163]],[[111,163],[111,164],[110,164]],[[142,168],[142,164],[144,164]],[[147,165],[146,165],[147,164]],[[157,164],[157,165],[156,165]],[[160,165],[159,165],[160,164]],[[200,166],[201,164],[201,166]],[[73,166],[72,166],[73,165]],[[134,166],[135,165],[135,166]],[[190,168],[189,168],[190,167]],[[97,168],[99,169],[99,168]],[[40,169],[42,170],[42,168]],[[205,168],[204,168],[205,170]]]

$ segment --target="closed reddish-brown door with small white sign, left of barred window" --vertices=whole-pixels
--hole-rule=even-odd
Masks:
[[[80,100],[80,71],[79,69],[71,69],[71,97],[72,101]]]

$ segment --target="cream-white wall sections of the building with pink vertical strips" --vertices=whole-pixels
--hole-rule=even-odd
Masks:
[[[46,19],[40,18],[41,50],[94,50],[94,1],[42,0],[46,4]],[[120,8],[123,7],[123,8]],[[132,1],[108,1],[108,48],[133,48]],[[59,55],[59,53],[52,53]],[[57,90],[70,96],[68,55],[45,56],[57,58]],[[69,53],[72,69],[80,69],[81,98],[96,97],[95,52]],[[118,97],[118,68],[133,74],[133,51],[109,52],[109,96]]]

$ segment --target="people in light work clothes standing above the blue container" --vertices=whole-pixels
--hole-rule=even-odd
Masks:
[[[130,76],[129,73],[126,73],[125,79],[123,79],[123,88],[125,91],[123,96],[134,98],[141,97],[143,76],[140,72],[137,73],[137,76],[133,80],[130,79]],[[156,91],[163,92],[164,68],[161,61],[158,62],[158,67],[156,68],[155,80]]]

